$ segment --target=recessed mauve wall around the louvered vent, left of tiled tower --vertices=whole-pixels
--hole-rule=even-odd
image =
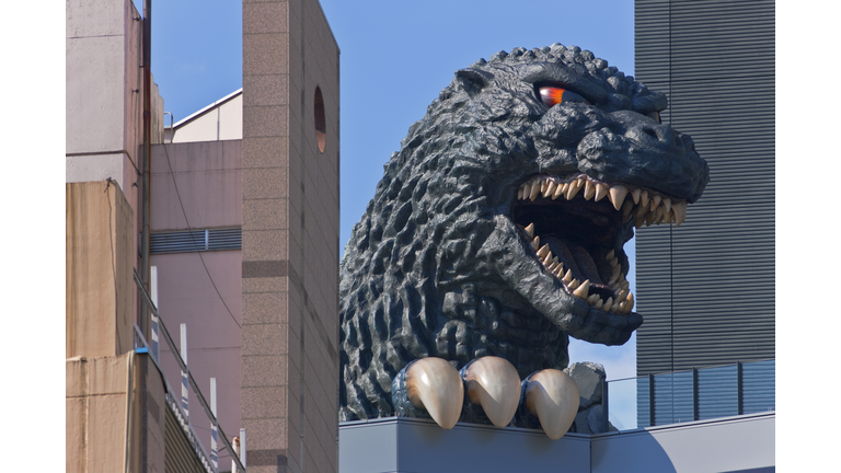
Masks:
[[[241,227],[241,166],[240,140],[153,146],[152,232]],[[158,267],[161,319],[176,344],[180,325],[187,324],[191,372],[208,402],[210,378],[217,379],[217,417],[229,439],[239,435],[241,426],[241,254],[227,250],[151,256],[151,265]],[[170,385],[178,389],[181,370],[175,356],[161,344],[164,373]],[[210,424],[195,396],[189,407],[195,413],[191,420],[196,432],[209,448]],[[228,459],[222,452],[220,465],[229,464]]]

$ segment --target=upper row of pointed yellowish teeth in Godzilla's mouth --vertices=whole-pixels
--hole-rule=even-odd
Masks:
[[[680,226],[687,219],[684,199],[671,198],[643,187],[625,184],[609,185],[584,174],[567,182],[561,182],[554,176],[534,176],[520,185],[517,199],[534,201],[538,197],[552,200],[563,197],[572,200],[581,189],[586,200],[599,201],[608,197],[613,208],[622,211],[622,222],[633,219],[636,228],[643,224],[648,227],[652,223]]]

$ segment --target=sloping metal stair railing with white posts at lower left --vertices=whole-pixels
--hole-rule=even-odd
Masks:
[[[218,452],[216,452],[214,446],[214,454],[208,455],[207,451],[205,450],[205,447],[203,442],[199,440],[199,437],[196,435],[195,430],[193,429],[193,426],[189,423],[189,415],[185,411],[186,407],[186,388],[192,388],[193,393],[195,394],[196,400],[201,405],[205,415],[207,416],[208,420],[210,422],[211,428],[217,432],[215,436],[216,438],[220,439],[223,445],[223,449],[227,449],[228,452],[231,455],[231,460],[233,461],[234,471],[238,471],[239,473],[245,473],[245,452],[244,448],[241,448],[242,450],[242,459],[240,458],[240,454],[237,450],[234,450],[231,442],[228,440],[228,436],[222,430],[221,426],[219,425],[219,420],[216,418],[215,405],[211,406],[207,403],[205,400],[204,394],[201,393],[201,390],[198,389],[198,384],[196,383],[196,380],[193,378],[193,374],[189,372],[189,369],[187,368],[186,364],[186,356],[180,355],[180,350],[175,346],[174,342],[172,341],[172,337],[170,336],[169,331],[166,330],[166,325],[164,325],[163,320],[161,319],[160,313],[158,313],[158,307],[153,302],[152,297],[147,292],[146,288],[143,287],[143,284],[140,279],[140,276],[137,274],[137,270],[135,270],[135,285],[138,288],[138,293],[146,302],[146,305],[149,308],[149,311],[152,314],[152,323],[150,324],[150,330],[152,331],[152,345],[150,346],[149,343],[147,343],[146,337],[143,336],[140,328],[135,324],[135,349],[138,353],[148,353],[150,355],[150,358],[154,362],[154,365],[158,367],[158,370],[162,374],[164,387],[166,388],[166,404],[173,409],[175,416],[178,419],[178,423],[181,424],[182,428],[184,429],[184,432],[187,435],[187,438],[193,443],[193,448],[195,450],[196,455],[200,459],[201,463],[204,464],[205,469],[208,471],[208,473],[218,473]],[[182,395],[175,396],[175,391],[170,385],[169,381],[166,381],[166,377],[163,376],[163,369],[160,365],[159,354],[158,354],[158,343],[159,339],[158,335],[162,335],[163,339],[166,342],[166,345],[170,347],[170,351],[173,354],[173,358],[178,364],[178,368],[181,368],[182,378],[184,379],[184,385],[182,385]],[[184,344],[182,344],[184,346]],[[185,347],[186,348],[186,347]],[[215,404],[215,403],[214,403]],[[244,431],[240,430],[241,437],[244,436]],[[242,446],[244,446],[244,438],[241,439]]]

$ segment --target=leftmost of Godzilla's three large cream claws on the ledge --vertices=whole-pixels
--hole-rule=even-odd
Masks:
[[[447,360],[422,358],[406,369],[406,395],[412,405],[426,409],[439,426],[449,430],[461,415],[464,383]]]

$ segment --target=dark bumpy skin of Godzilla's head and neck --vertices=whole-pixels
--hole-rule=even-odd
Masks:
[[[537,89],[545,83],[589,103],[550,107]],[[518,189],[538,175],[585,174],[695,201],[708,169],[690,137],[653,119],[666,106],[590,51],[560,44],[457,71],[385,164],[345,247],[341,420],[394,415],[392,381],[418,358],[460,369],[494,355],[525,379],[566,367],[568,335],[625,343],[642,316],[569,293],[512,214]],[[623,275],[633,228],[622,222],[609,236]]]

